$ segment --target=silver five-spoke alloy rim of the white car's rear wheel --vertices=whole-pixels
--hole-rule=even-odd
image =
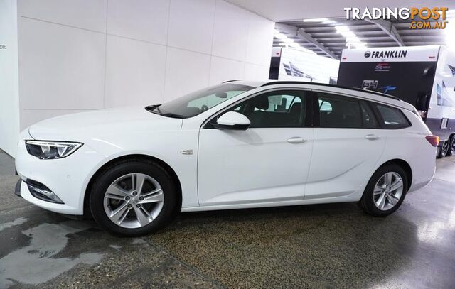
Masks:
[[[395,172],[388,172],[376,182],[373,201],[378,209],[387,211],[397,205],[402,194],[403,180],[401,176]]]

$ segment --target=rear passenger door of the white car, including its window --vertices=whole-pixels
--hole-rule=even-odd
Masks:
[[[386,132],[362,99],[316,92],[314,147],[305,199],[350,195],[373,173]]]

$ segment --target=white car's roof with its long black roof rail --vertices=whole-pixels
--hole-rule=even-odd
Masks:
[[[383,102],[387,104],[392,104],[397,107],[401,107],[403,109],[407,110],[414,110],[415,107],[412,104],[409,104],[407,102],[403,102],[401,99],[398,97],[395,97],[390,94],[384,94],[380,92],[374,92],[372,90],[367,90],[367,89],[360,89],[356,87],[343,87],[340,85],[334,85],[334,84],[324,84],[324,83],[316,83],[316,82],[303,82],[303,81],[289,81],[289,80],[229,80],[226,82],[232,82],[232,83],[237,83],[237,84],[242,84],[242,85],[248,85],[251,87],[295,87],[295,85],[302,85],[305,88],[309,89],[321,89],[327,92],[338,92],[341,94],[350,94],[354,97],[361,97],[364,99],[370,99],[376,102]],[[223,83],[226,83],[223,82]]]

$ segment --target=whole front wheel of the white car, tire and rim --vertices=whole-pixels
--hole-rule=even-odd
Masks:
[[[95,180],[90,211],[97,224],[112,234],[150,234],[175,217],[176,187],[159,164],[127,160]]]

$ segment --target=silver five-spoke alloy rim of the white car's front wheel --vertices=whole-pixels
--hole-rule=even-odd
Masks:
[[[156,219],[164,205],[161,185],[143,173],[130,173],[107,188],[104,207],[107,217],[120,227],[140,228]]]

